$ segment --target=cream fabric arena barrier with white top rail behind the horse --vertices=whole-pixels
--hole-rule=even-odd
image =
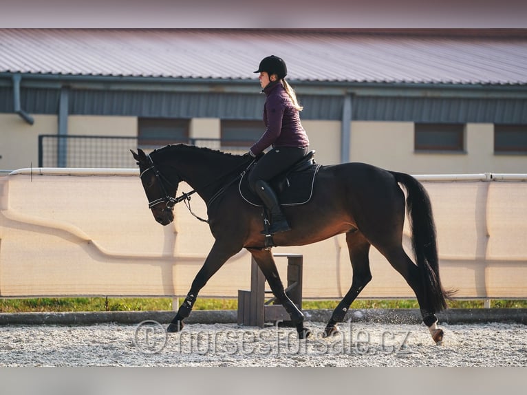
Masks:
[[[458,298],[527,299],[527,175],[418,175],[438,231],[440,273]],[[179,191],[189,192],[180,184]],[[193,211],[206,217],[197,195]],[[409,231],[403,240],[410,250]],[[161,226],[136,169],[21,169],[0,177],[0,297],[182,297],[213,244],[184,204]],[[351,285],[345,236],[274,248],[303,255],[303,299],[341,298]],[[374,248],[361,298],[409,298]],[[277,258],[282,279],[287,259]],[[250,254],[231,258],[201,297],[250,288]]]

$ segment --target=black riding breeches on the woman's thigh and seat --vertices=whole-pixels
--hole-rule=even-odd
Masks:
[[[258,180],[270,181],[286,171],[308,153],[308,147],[275,147],[262,156],[251,169],[248,180],[252,191]]]

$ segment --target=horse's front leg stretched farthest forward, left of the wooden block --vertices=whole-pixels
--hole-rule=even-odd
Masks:
[[[171,321],[168,328],[166,328],[166,332],[179,332],[183,329],[183,320],[191,314],[192,308],[197,299],[197,294],[205,286],[208,279],[213,277],[214,273],[224,265],[227,259],[238,253],[239,250],[241,250],[241,247],[237,248],[232,244],[225,244],[218,241],[214,243],[211,252],[208,253],[208,256],[205,259],[205,263],[200,271],[197,272],[197,275],[192,282],[191,290],[189,290],[185,300],[181,303],[178,313],[175,314],[174,319]]]

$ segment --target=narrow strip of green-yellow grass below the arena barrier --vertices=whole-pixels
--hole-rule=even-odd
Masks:
[[[180,303],[182,299],[180,299]],[[334,309],[338,301],[302,302],[303,310]],[[237,299],[198,298],[194,310],[236,310]],[[482,300],[449,301],[450,308],[483,308]],[[353,302],[355,309],[367,308],[419,308],[415,299],[358,299]],[[525,300],[491,300],[491,308],[527,308]],[[171,298],[28,298],[0,299],[0,312],[91,312],[91,311],[162,311],[172,310]]]

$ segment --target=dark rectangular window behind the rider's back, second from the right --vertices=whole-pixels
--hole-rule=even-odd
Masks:
[[[464,125],[416,123],[416,151],[464,151]]]

